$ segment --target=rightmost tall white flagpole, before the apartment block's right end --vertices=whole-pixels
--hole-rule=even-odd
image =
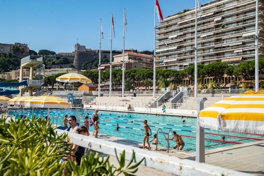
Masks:
[[[258,0],[255,10],[255,91],[258,91]]]

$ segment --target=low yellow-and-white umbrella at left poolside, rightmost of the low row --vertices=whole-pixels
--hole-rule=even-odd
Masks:
[[[25,102],[26,106],[32,108],[59,108],[59,109],[69,109],[70,104],[56,96],[40,96],[33,97],[32,99]]]

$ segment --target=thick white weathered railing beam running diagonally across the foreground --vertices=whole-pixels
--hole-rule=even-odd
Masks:
[[[135,152],[135,161],[140,161],[145,158],[141,165],[151,167],[166,173],[175,175],[233,175],[243,176],[248,175],[243,172],[229,170],[215,165],[196,162],[189,159],[180,159],[175,156],[157,153],[154,151],[147,151],[137,147],[128,146],[112,141],[93,138],[90,136],[80,135],[63,130],[56,130],[58,134],[67,133],[68,142],[89,148],[92,151],[97,151],[106,155],[115,156],[115,150],[119,156],[124,150],[126,152],[125,159],[130,160],[133,152]]]

